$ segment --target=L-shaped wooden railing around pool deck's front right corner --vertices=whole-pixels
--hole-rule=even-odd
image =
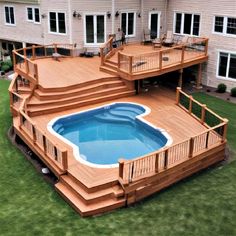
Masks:
[[[184,106],[181,105],[180,96],[182,95],[187,98]],[[183,93],[180,88],[177,89],[176,100],[179,106],[183,107],[183,109],[189,112],[193,117],[196,117],[199,122],[207,127],[207,130],[185,141],[160,149],[143,157],[134,160],[121,159],[119,161],[119,181],[122,185],[127,185],[148,176],[155,175],[158,172],[165,171],[185,162],[189,158],[194,158],[211,148],[217,147],[226,141],[227,119],[221,118],[208,109],[206,105],[197,102],[191,98],[191,96]],[[200,106],[201,112],[199,112],[199,110],[194,112],[193,104],[197,104],[197,107]],[[210,117],[214,117],[214,122],[210,121],[210,118],[207,118],[208,115],[206,111],[210,114]],[[216,122],[216,120],[218,122]]]

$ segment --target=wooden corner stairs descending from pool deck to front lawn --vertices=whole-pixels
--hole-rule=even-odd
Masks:
[[[55,188],[81,216],[97,215],[126,205],[124,191],[118,182],[91,189],[68,173],[60,176]]]

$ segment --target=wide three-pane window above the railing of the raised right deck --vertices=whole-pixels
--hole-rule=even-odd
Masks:
[[[199,36],[200,15],[191,13],[175,13],[174,32]]]

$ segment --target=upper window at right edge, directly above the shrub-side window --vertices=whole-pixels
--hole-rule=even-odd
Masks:
[[[236,18],[215,16],[214,32],[224,35],[236,35]]]

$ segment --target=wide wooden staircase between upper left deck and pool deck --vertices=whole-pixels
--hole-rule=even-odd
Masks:
[[[132,82],[111,76],[63,88],[39,86],[27,104],[28,114],[37,116],[95,104],[135,94]]]

